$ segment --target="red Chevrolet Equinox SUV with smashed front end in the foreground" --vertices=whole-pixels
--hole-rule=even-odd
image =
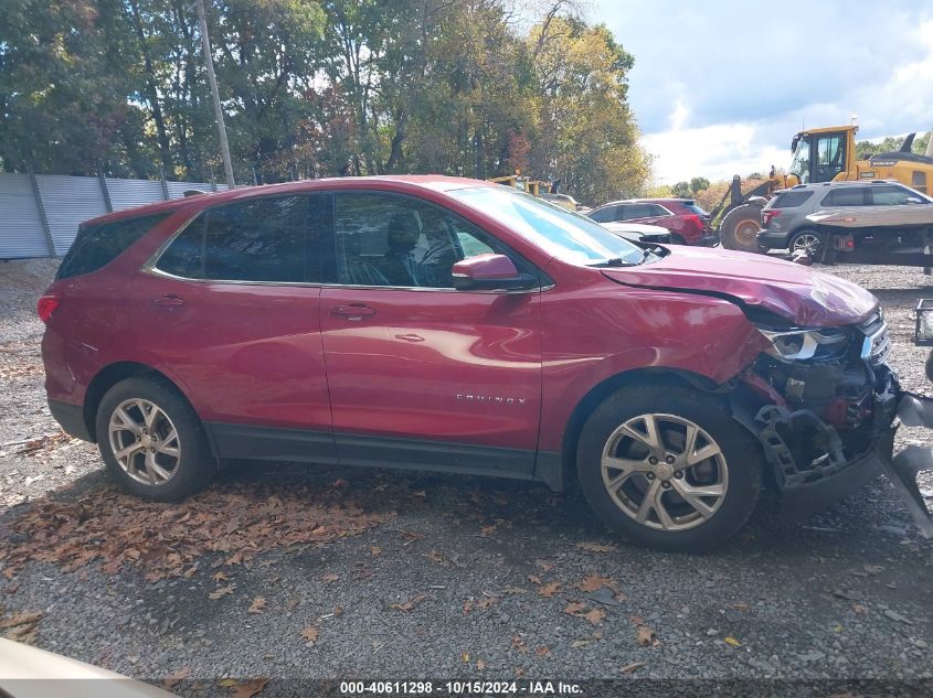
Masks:
[[[81,227],[39,301],[52,414],[177,500],[223,459],[580,483],[634,540],[729,538],[878,473],[897,383],[861,288],[636,246],[443,176],[200,195]]]

